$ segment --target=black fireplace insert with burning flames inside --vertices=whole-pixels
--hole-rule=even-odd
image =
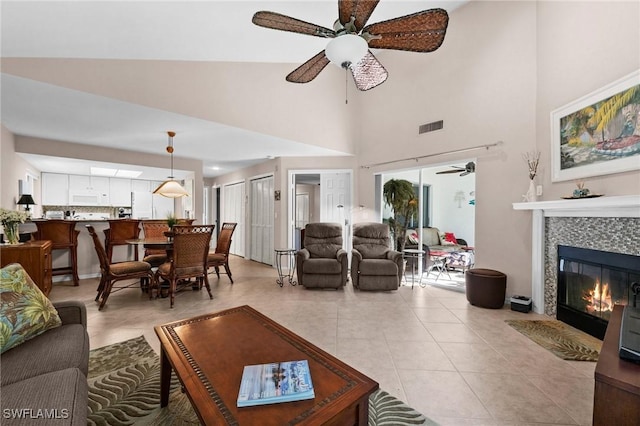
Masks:
[[[631,303],[640,282],[640,256],[558,246],[557,317],[604,338],[616,304]]]

